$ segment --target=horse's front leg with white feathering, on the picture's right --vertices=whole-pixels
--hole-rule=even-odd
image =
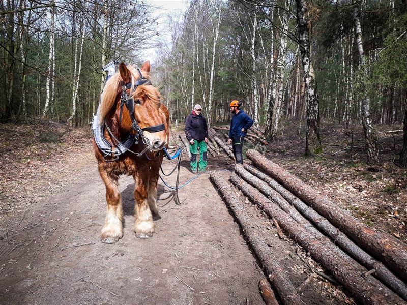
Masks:
[[[136,189],[134,191],[135,205],[134,216],[136,222],[134,224],[134,232],[138,238],[153,237],[155,225],[148,203],[148,188],[149,188],[149,170],[139,170],[135,176]]]

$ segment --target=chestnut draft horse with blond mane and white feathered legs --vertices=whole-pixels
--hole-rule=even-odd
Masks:
[[[117,242],[123,236],[123,209],[122,198],[118,188],[118,178],[121,174],[132,175],[135,180],[135,224],[134,231],[138,238],[150,238],[154,233],[153,216],[159,217],[157,209],[157,180],[158,171],[163,160],[159,151],[168,146],[169,142],[169,112],[165,105],[160,103],[160,94],[152,85],[139,85],[135,83],[143,77],[149,78],[150,62],[145,62],[140,71],[132,66],[120,64],[120,73],[114,74],[107,82],[98,108],[100,124],[105,122],[113,136],[106,129],[105,139],[113,145],[116,141],[123,141],[129,133],[136,134],[132,128],[132,119],[129,110],[123,107],[121,111],[121,94],[123,85],[129,84],[126,90],[129,97],[134,98],[134,118],[141,129],[164,124],[164,130],[159,132],[144,131],[144,137],[149,146],[141,157],[126,151],[117,161],[106,162],[102,151],[94,140],[94,150],[98,161],[100,177],[106,186],[107,213],[105,224],[101,231],[100,240],[105,243]],[[136,89],[134,90],[134,88]],[[133,92],[134,90],[134,92]],[[130,108],[129,108],[130,109]],[[116,138],[116,139],[114,139]],[[140,153],[146,144],[140,141],[131,146],[131,150]],[[144,150],[145,151],[145,150]],[[109,160],[107,160],[109,161]]]

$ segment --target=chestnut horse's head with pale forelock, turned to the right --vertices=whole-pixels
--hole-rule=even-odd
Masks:
[[[157,88],[151,85],[150,82],[140,84],[139,81],[141,78],[149,79],[150,62],[145,62],[141,69],[133,66],[127,67],[124,63],[121,63],[119,71],[120,76],[119,74],[114,75],[106,84],[102,104],[105,103],[105,100],[114,100],[115,112],[113,117],[118,122],[120,129],[136,135],[137,131],[134,129],[133,116],[141,129],[147,128],[142,133],[148,139],[150,149],[155,151],[162,149],[169,139],[168,109],[160,102],[161,96]],[[139,82],[137,83],[137,81]],[[113,88],[114,86],[115,88]],[[110,94],[110,98],[108,97],[108,87],[111,87],[114,97],[113,93]],[[122,105],[123,92],[127,95],[130,107]],[[107,112],[105,115],[107,115]],[[103,116],[102,114],[101,119]]]

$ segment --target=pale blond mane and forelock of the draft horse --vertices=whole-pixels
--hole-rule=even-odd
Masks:
[[[130,88],[130,92],[132,92],[131,96],[134,97],[136,93],[139,93],[139,90],[142,90],[147,97],[146,100],[150,101],[151,103],[159,104],[161,100],[161,95],[158,92],[157,88],[152,85],[141,85],[135,90],[135,92],[133,92],[134,83],[140,78],[140,75],[138,74],[137,68],[135,66],[128,66],[127,69],[129,69],[131,73],[131,88]],[[150,79],[148,72],[142,70],[140,71],[144,77]],[[107,113],[114,106],[116,102],[116,97],[122,89],[121,85],[122,77],[120,76],[120,73],[115,73],[106,82],[105,87],[103,89],[101,102],[98,107],[100,123],[103,123]]]

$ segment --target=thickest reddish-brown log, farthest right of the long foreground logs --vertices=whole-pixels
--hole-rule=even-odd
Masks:
[[[258,151],[249,149],[246,155],[254,165],[263,169],[334,226],[341,228],[362,249],[382,261],[402,280],[407,280],[407,245],[405,243],[390,234],[371,229],[325,196],[318,194],[301,179],[261,156]]]

